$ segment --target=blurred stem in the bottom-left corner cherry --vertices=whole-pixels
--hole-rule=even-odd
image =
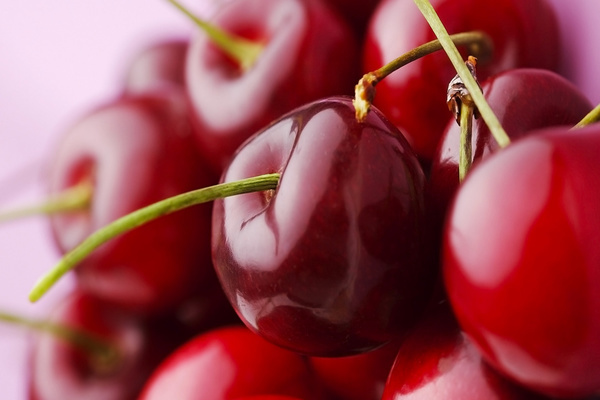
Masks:
[[[94,364],[107,368],[119,362],[120,351],[117,347],[104,339],[98,338],[81,329],[64,324],[56,324],[45,320],[26,318],[15,314],[0,311],[0,321],[25,327],[35,332],[48,333],[70,343],[94,359]]]

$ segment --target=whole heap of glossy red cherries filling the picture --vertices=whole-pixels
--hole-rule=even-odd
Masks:
[[[30,399],[600,393],[600,125],[571,129],[593,107],[552,72],[546,1],[432,1],[508,146],[472,93],[448,111],[442,52],[380,74],[435,39],[425,1],[231,0],[209,24],[171,2],[200,33],[140,53],[57,148],[77,286]]]

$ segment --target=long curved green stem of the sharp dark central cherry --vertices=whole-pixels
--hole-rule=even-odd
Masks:
[[[66,253],[58,264],[34,285],[29,294],[29,300],[38,301],[63,275],[75,268],[92,251],[118,235],[161,216],[196,204],[238,194],[273,190],[277,188],[278,184],[279,173],[259,175],[182,193],[127,214],[98,229],[81,244]]]

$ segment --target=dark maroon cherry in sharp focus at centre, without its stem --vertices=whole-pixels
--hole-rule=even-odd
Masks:
[[[432,292],[424,174],[376,109],[351,99],[296,109],[254,136],[222,177],[280,171],[278,188],[217,200],[213,263],[253,331],[312,356],[403,335]]]

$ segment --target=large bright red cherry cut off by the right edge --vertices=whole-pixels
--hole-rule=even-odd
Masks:
[[[600,390],[600,125],[532,133],[457,192],[444,277],[485,359],[541,393]]]

